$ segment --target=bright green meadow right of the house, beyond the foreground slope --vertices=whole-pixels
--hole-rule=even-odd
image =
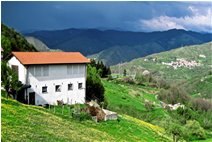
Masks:
[[[155,124],[165,116],[168,117],[167,112],[161,108],[160,102],[154,95],[158,90],[127,83],[103,81],[103,84],[110,110],[148,122],[155,121]],[[155,103],[155,108],[152,111],[146,110],[145,100]]]

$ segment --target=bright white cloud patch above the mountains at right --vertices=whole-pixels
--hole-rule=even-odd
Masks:
[[[169,29],[185,29],[201,32],[212,32],[212,10],[208,8],[205,12],[189,6],[190,16],[169,17],[159,16],[150,20],[140,20],[138,22],[141,29],[149,31],[163,31]]]

